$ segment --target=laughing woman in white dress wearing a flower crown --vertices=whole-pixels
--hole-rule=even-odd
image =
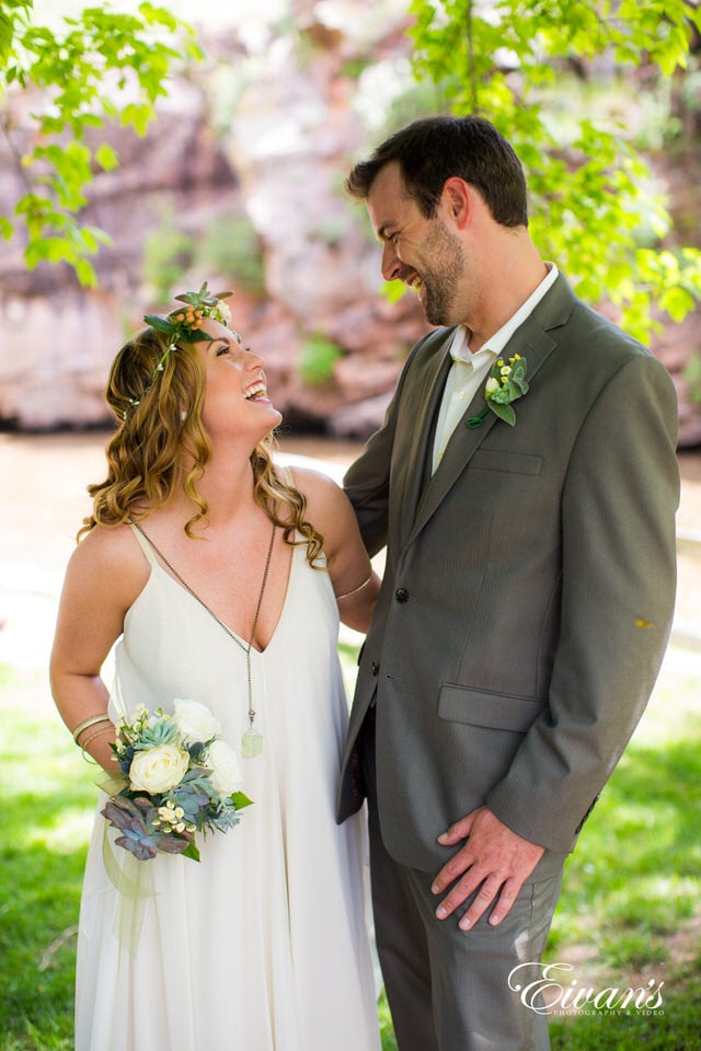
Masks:
[[[101,794],[76,1051],[379,1048],[365,831],[334,820],[338,615],[365,631],[379,581],[341,489],[274,465],[280,414],[263,360],[228,327],[227,294],[179,297],[114,361],[118,426],[106,481],[89,487],[50,674],[77,743],[113,776],[120,717],[206,705],[253,804],[226,834],[198,834],[199,863],[137,861]]]

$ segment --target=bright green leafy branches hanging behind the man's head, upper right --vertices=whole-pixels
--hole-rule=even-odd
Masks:
[[[690,61],[698,76],[697,4],[413,0],[412,12],[416,74],[440,85],[451,112],[493,120],[526,165],[544,256],[585,300],[620,308],[643,339],[659,324],[653,307],[681,321],[701,294],[701,253],[657,247],[671,219],[644,158],[645,125],[640,136],[627,125],[624,95],[632,72],[639,91],[666,101],[663,138],[674,135],[673,83],[683,83]]]

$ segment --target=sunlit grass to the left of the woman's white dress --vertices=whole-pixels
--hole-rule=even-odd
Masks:
[[[22,695],[36,689],[30,678],[8,668],[0,674],[0,1048],[70,1051],[94,774],[58,716],[23,711]]]

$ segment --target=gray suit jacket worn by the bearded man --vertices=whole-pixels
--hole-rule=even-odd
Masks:
[[[676,581],[677,407],[665,368],[565,279],[504,351],[527,359],[516,425],[461,420],[426,481],[452,330],[412,351],[346,475],[387,569],[350,716],[338,820],[360,805],[355,741],[377,704],[382,838],[425,871],[486,804],[555,870],[647,703]],[[468,408],[484,405],[482,393]]]

